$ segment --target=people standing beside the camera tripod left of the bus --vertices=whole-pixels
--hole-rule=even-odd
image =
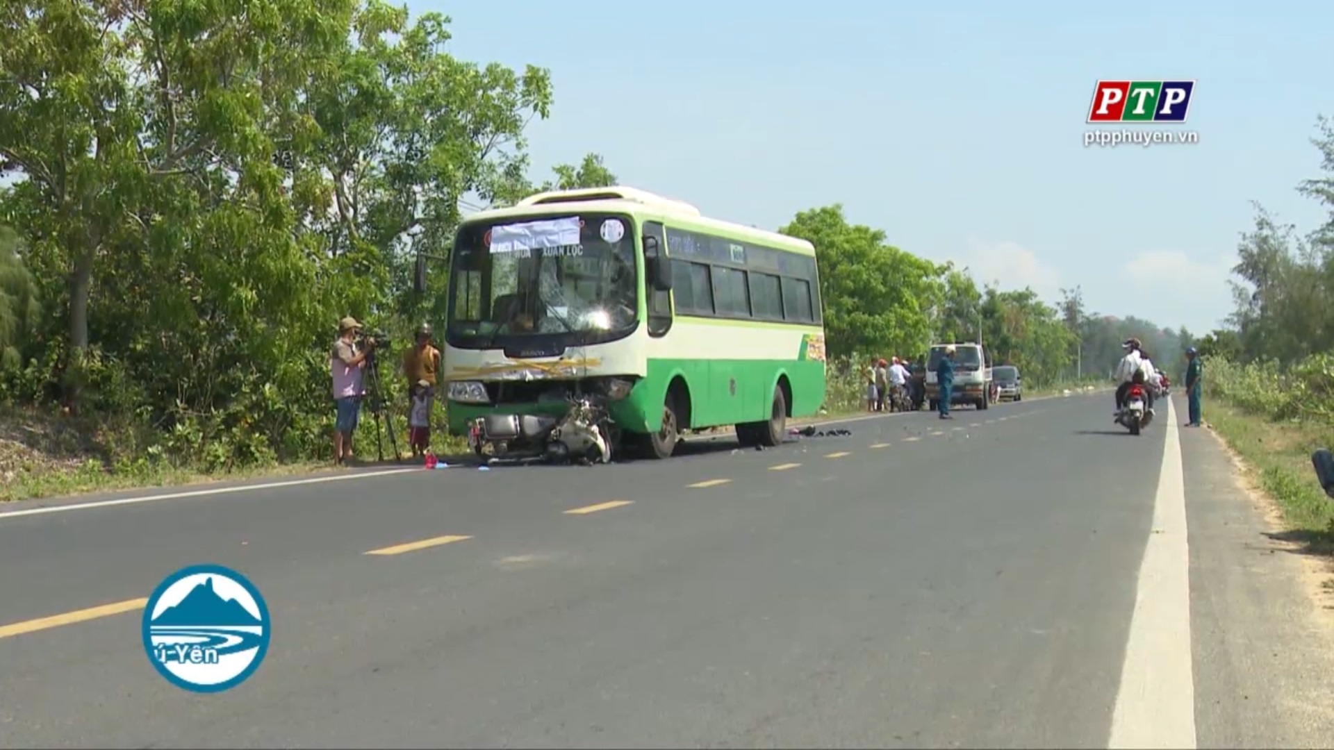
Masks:
[[[335,464],[352,460],[352,434],[366,398],[366,366],[378,346],[375,339],[363,338],[360,332],[362,324],[355,318],[344,318],[329,352]],[[440,375],[440,350],[431,346],[430,324],[419,326],[414,346],[404,350],[402,375],[408,383],[408,447],[414,456],[422,456],[431,446],[431,408]]]

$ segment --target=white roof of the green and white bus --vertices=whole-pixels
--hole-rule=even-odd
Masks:
[[[703,230],[740,242],[762,243],[787,252],[815,255],[811,243],[768,230],[708,219],[690,203],[663,198],[628,185],[547,191],[530,195],[508,208],[488,208],[471,214],[463,223],[498,222],[518,216],[548,216],[571,211],[607,211],[630,214],[640,219],[659,219],[674,227]]]

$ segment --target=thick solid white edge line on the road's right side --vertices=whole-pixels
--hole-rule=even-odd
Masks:
[[[1181,427],[1171,400],[1163,402],[1163,464],[1111,714],[1107,746],[1114,749],[1197,747]]]

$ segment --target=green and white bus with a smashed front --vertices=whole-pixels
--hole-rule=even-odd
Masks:
[[[419,278],[424,270],[419,268]],[[450,431],[608,396],[667,458],[686,430],[783,440],[824,400],[815,248],[628,187],[554,191],[467,216],[450,255]]]

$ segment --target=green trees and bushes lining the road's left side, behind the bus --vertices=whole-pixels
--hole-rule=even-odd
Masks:
[[[550,71],[454,57],[440,15],[248,8],[0,13],[0,499],[324,466],[342,316],[392,339],[402,403],[398,347],[444,319],[443,274],[415,295],[412,255],[478,206],[616,181],[598,153],[535,177],[524,132],[551,113]],[[1190,338],[1086,311],[1079,290],[979,287],[839,206],[782,231],[820,254],[831,415],[860,411],[870,358],[939,340],[980,335],[1035,394],[1105,376],[1126,336]],[[363,459],[379,430],[362,420]]]

